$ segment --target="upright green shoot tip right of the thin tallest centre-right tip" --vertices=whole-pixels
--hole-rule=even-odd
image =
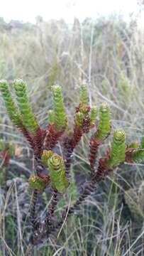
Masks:
[[[104,102],[99,107],[99,123],[98,133],[96,134],[99,138],[105,138],[111,131],[111,114],[109,105]]]

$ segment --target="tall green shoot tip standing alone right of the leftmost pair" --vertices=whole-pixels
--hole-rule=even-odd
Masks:
[[[55,129],[57,132],[62,132],[62,129],[66,127],[67,117],[64,111],[62,88],[60,85],[52,86],[52,97],[55,113]]]

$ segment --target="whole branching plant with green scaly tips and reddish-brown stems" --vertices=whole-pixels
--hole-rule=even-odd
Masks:
[[[87,84],[82,83],[79,87],[80,100],[79,105],[75,107],[73,129],[70,129],[67,123],[62,87],[59,85],[52,86],[53,109],[48,111],[48,126],[42,129],[32,111],[26,82],[21,79],[13,81],[13,96],[8,82],[0,81],[0,91],[9,117],[27,139],[35,156],[35,171],[28,179],[33,188],[30,212],[33,227],[31,246],[38,245],[49,238],[51,233],[59,230],[64,220],[79,208],[87,196],[94,192],[96,184],[110,171],[124,162],[137,163],[144,159],[144,139],[142,138],[140,144],[126,144],[123,129],[112,131],[109,105],[104,102],[99,107],[90,107]],[[99,146],[104,144],[111,131],[111,146],[104,156],[98,159]],[[57,203],[70,186],[72,154],[82,136],[89,133],[89,181],[79,188],[79,198],[74,205],[63,209],[61,218],[57,219]],[[62,145],[62,155],[55,151],[57,142]],[[40,217],[36,211],[38,195],[40,196],[48,186],[51,188],[51,200],[45,216]]]

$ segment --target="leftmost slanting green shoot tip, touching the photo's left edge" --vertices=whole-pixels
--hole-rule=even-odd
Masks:
[[[0,91],[1,95],[4,99],[4,103],[6,105],[6,110],[9,114],[11,121],[16,124],[21,124],[21,115],[18,113],[15,103],[13,102],[13,98],[11,96],[11,92],[9,90],[9,84],[6,80],[0,81]]]

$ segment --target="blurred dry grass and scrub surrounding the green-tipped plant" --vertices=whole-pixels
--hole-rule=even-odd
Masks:
[[[72,26],[63,20],[45,22],[41,17],[37,17],[36,25],[6,23],[0,18],[0,79],[28,82],[33,111],[43,126],[48,123],[52,105],[51,85],[62,85],[71,122],[79,102],[79,82],[86,80],[90,104],[108,102],[113,128],[123,128],[128,142],[140,142],[144,126],[143,57],[143,33],[133,18],[129,23],[120,16],[95,22],[87,18],[82,23],[75,19]],[[27,180],[33,170],[33,154],[9,121],[2,101],[0,105],[1,152],[4,144],[13,152],[9,166],[4,166],[1,157],[0,255],[19,256],[24,255],[31,233]],[[103,152],[101,148],[99,154]],[[72,175],[81,184],[89,174],[87,137],[74,157]],[[9,174],[4,180],[6,168]],[[127,164],[116,170],[67,221],[59,238],[50,238],[35,249],[34,255],[144,255],[143,178],[143,164]],[[77,198],[75,183],[69,190],[60,208]],[[46,192],[39,202],[42,214],[48,199]]]

